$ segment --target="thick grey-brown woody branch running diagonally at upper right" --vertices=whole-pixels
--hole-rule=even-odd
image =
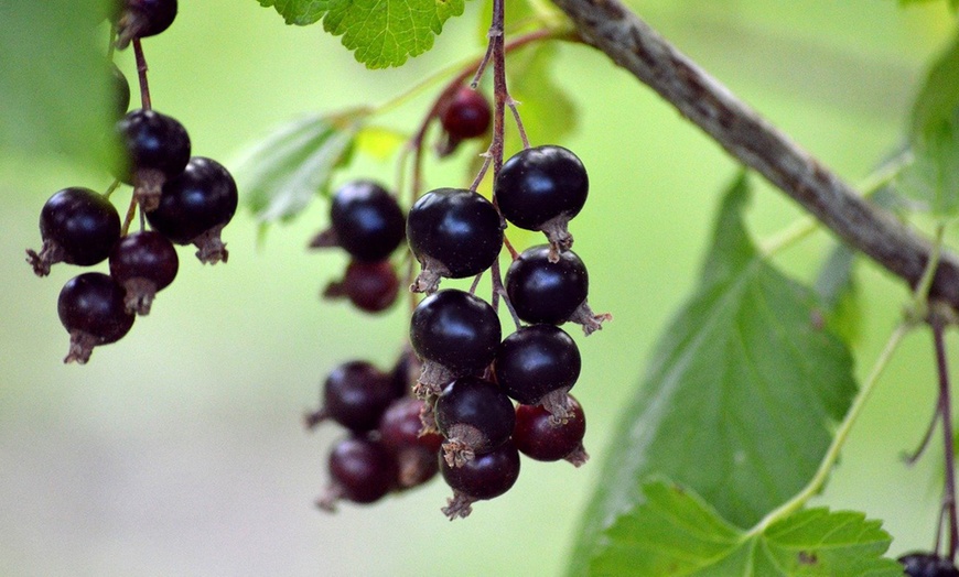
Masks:
[[[618,0],[553,0],[586,43],[659,92],[740,162],[764,175],[851,247],[919,282],[930,243],[863,200]],[[930,296],[959,308],[959,261],[942,254]]]

